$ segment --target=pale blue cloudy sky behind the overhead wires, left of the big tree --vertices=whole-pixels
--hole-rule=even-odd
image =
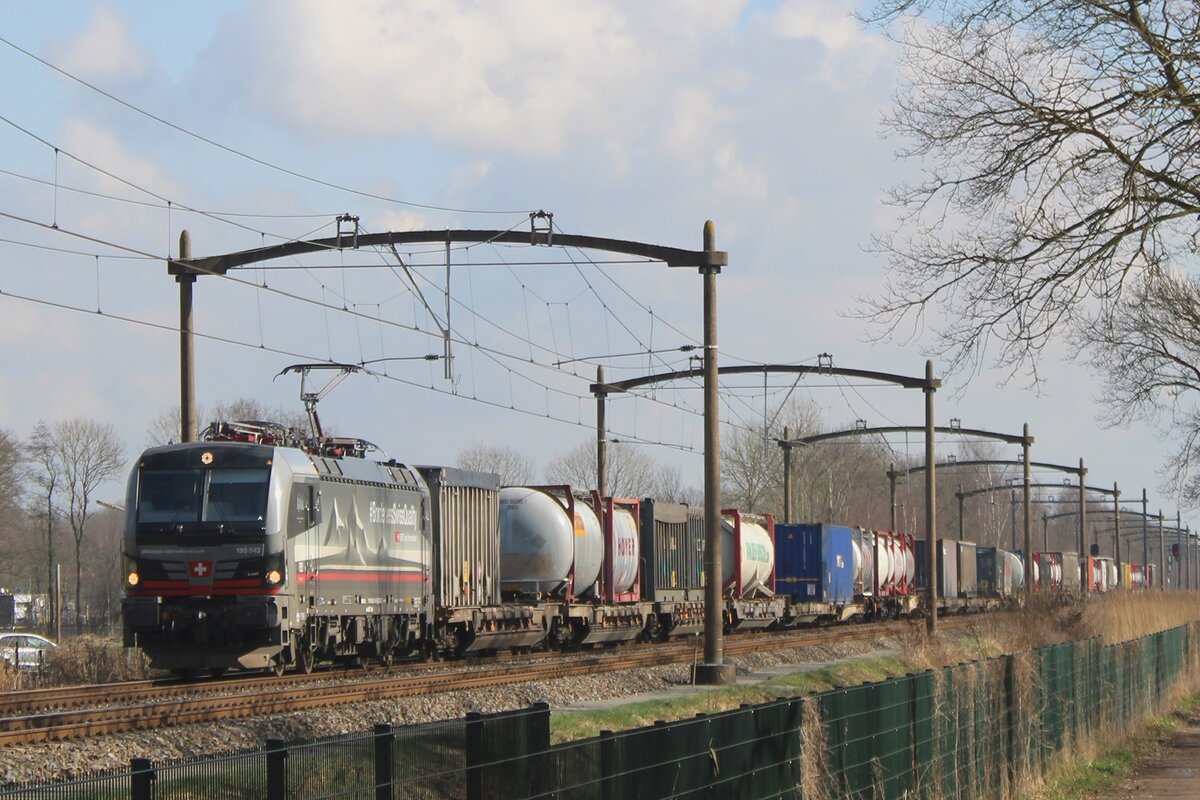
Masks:
[[[92,416],[114,425],[132,457],[148,420],[178,403],[178,295],[161,259],[175,254],[180,229],[205,255],[328,236],[342,212],[383,231],[528,227],[528,212],[545,209],[568,233],[686,248],[700,247],[710,218],[730,253],[722,363],[832,353],[839,366],[920,374],[918,343],[869,344],[845,315],[882,285],[883,263],[865,247],[893,219],[886,188],[916,169],[878,128],[895,53],[852,11],[842,0],[277,0],[12,14],[0,32],[11,43],[0,44],[0,425],[25,435],[38,419]],[[440,363],[390,362],[386,377],[340,386],[323,415],[402,461],[450,462],[487,441],[544,465],[593,435],[593,367],[554,361],[701,337],[695,272],[588,257],[604,258],[456,251],[451,321],[480,348],[455,347],[455,383]],[[442,258],[404,254],[439,309]],[[527,264],[538,259],[576,263]],[[215,337],[198,349],[202,403],[293,405],[294,379],[272,380],[288,363],[440,351],[395,260],[341,252],[276,266],[293,269],[199,281],[197,326]],[[1097,387],[1061,353],[1043,365],[1039,393],[986,372],[952,378],[938,421],[1010,433],[1028,422],[1036,459],[1082,457],[1090,480],[1128,494],[1147,486],[1152,506],[1174,509],[1156,499],[1153,432],[1099,428]],[[605,363],[625,378],[683,367],[686,355]],[[772,386],[766,401],[786,391]],[[798,391],[830,423],[922,419],[913,392]],[[731,385],[726,420],[752,426],[763,395]],[[614,404],[612,426],[698,485],[698,407],[695,389],[665,387]]]

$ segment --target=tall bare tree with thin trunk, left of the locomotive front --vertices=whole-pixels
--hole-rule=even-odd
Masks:
[[[104,482],[125,467],[120,439],[112,426],[95,420],[65,420],[50,434],[52,459],[55,462],[66,493],[64,516],[74,537],[76,554],[76,627],[83,624],[83,540],[92,513],[91,497]]]

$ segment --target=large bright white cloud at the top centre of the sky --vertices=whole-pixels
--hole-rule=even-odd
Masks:
[[[613,101],[655,60],[637,19],[601,4],[301,0],[253,14],[224,28],[217,58],[258,59],[252,100],[330,133],[554,155],[611,128]]]

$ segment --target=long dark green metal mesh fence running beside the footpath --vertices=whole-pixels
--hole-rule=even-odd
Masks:
[[[286,744],[0,798],[659,800],[1010,798],[1200,669],[1200,624],[1075,642],[551,745],[550,708]],[[186,735],[186,734],[185,734]]]

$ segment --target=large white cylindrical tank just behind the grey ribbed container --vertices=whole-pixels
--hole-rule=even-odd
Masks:
[[[604,531],[595,511],[575,503],[572,519],[565,499],[540,489],[500,489],[500,582],[506,589],[562,594],[571,582],[575,596],[593,591],[604,563]]]

